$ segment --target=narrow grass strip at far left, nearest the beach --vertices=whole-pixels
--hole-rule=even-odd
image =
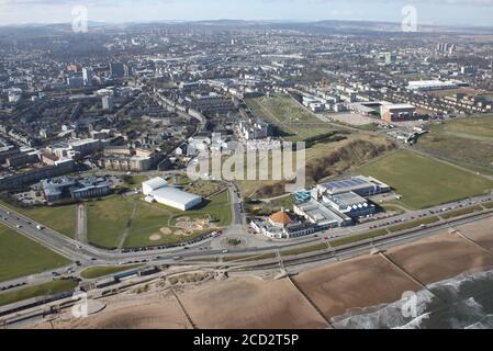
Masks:
[[[52,281],[48,283],[23,287],[20,290],[0,293],[0,306],[13,304],[33,297],[42,297],[45,295],[57,295],[70,292],[79,285],[76,281]]]

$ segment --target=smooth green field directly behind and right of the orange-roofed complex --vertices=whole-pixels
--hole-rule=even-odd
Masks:
[[[426,208],[456,200],[481,195],[493,182],[412,151],[399,151],[359,168],[401,194],[402,203]]]

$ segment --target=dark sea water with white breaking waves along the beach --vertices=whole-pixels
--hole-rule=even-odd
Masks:
[[[493,329],[493,271],[462,274],[408,298],[350,310],[333,318],[336,329]]]

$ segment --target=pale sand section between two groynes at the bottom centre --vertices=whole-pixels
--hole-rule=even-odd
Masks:
[[[232,279],[187,291],[180,298],[199,328],[324,328],[288,280]]]

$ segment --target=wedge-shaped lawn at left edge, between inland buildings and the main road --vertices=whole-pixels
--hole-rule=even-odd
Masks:
[[[75,238],[76,236],[76,205],[24,208],[14,207],[5,203],[2,204],[69,238]]]

